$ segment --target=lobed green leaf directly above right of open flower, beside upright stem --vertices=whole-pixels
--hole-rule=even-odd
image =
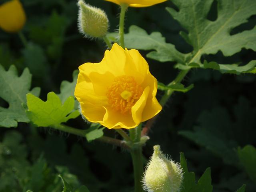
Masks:
[[[142,28],[132,25],[129,33],[124,35],[124,43],[127,48],[155,50],[147,54],[148,58],[161,62],[177,61],[185,64],[187,54],[178,52],[173,44],[166,43],[160,32],[152,32],[148,35]]]

